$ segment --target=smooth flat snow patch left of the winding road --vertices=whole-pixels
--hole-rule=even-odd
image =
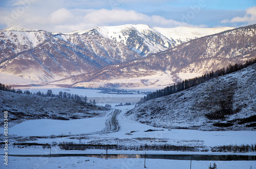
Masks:
[[[100,131],[105,127],[106,118],[75,119],[75,120],[29,120],[9,129],[9,134],[18,136],[47,136],[83,134]]]

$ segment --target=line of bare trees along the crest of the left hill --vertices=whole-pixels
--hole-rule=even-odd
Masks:
[[[71,100],[75,100],[75,101],[83,101],[83,102],[88,102],[88,98],[87,96],[82,96],[82,95],[77,95],[77,94],[71,94],[71,93],[67,93],[67,92],[62,92],[60,91],[58,94],[54,94],[52,92],[52,90],[48,90],[47,93],[44,92],[36,92],[36,93],[32,93],[29,90],[26,91],[22,91],[20,89],[14,89],[11,86],[5,85],[0,83],[0,90],[2,91],[7,91],[7,92],[13,92],[13,93],[19,93],[19,94],[27,94],[27,95],[38,95],[38,96],[44,96],[44,97],[55,97],[55,98],[62,98],[62,99],[71,99]],[[89,103],[95,105],[96,101],[95,99],[90,100]]]

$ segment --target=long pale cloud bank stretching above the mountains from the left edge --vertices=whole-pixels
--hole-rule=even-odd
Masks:
[[[28,0],[35,1],[35,0]],[[37,1],[36,1],[37,2]],[[19,4],[16,4],[19,5]],[[38,5],[38,4],[32,4]],[[23,6],[21,6],[23,7]],[[159,27],[176,26],[197,26],[188,23],[178,22],[172,19],[165,19],[159,15],[148,16],[146,14],[124,9],[81,9],[81,8],[63,8],[58,9],[49,7],[49,9],[24,8],[24,10],[13,17],[15,11],[20,6],[14,7],[12,11],[5,11],[5,15],[0,18],[0,24],[7,27],[19,26],[28,29],[40,29],[50,32],[72,32],[74,30],[85,30],[96,26],[110,26],[121,24],[148,24]],[[13,12],[14,11],[14,12]],[[9,18],[8,22],[5,18]]]

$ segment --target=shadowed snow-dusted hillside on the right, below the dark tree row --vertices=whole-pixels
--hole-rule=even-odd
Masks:
[[[256,127],[255,85],[256,64],[253,64],[193,88],[147,101],[126,116],[166,128],[252,130]]]

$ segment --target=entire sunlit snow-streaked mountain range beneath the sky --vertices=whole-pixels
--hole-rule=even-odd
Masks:
[[[202,74],[255,56],[255,37],[255,25],[167,29],[127,24],[67,34],[9,28],[0,31],[0,73],[76,86],[159,75],[172,83],[185,78],[182,73]],[[146,85],[163,85],[161,80]],[[136,83],[145,85],[145,80]]]

